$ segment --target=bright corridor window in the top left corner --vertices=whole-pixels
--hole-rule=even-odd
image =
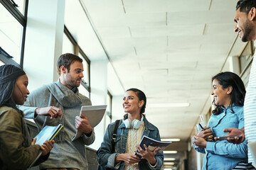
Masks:
[[[26,1],[3,0],[0,4],[0,60],[23,65],[26,30]]]

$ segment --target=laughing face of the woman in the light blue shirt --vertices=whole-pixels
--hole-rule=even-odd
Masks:
[[[223,89],[223,86],[220,85],[219,81],[217,79],[213,80],[213,89],[211,91],[211,95],[213,95],[214,101],[216,105],[224,106],[225,108],[227,106],[230,106],[231,103],[231,97],[230,93],[232,91],[232,87],[228,86],[228,88]]]

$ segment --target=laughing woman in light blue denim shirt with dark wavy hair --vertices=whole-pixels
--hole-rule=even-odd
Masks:
[[[247,162],[246,142],[233,145],[227,140],[213,142],[211,139],[228,135],[228,132],[223,132],[225,128],[244,127],[245,86],[240,77],[232,72],[219,73],[212,81],[211,95],[216,108],[208,127],[193,136],[193,146],[198,152],[206,154],[203,169],[230,170],[240,162]]]

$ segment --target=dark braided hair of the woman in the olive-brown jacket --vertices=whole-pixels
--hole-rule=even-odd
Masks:
[[[0,107],[9,106],[18,111],[16,103],[11,100],[14,93],[14,85],[16,79],[26,74],[23,69],[11,64],[6,64],[0,67]]]

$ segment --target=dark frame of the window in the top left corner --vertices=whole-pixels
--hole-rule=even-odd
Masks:
[[[25,38],[26,38],[26,23],[27,23],[27,13],[28,13],[28,0],[25,0],[24,6],[24,15],[18,11],[16,8],[16,4],[11,2],[10,0],[1,0],[0,3],[4,6],[4,8],[11,13],[12,16],[18,21],[18,23],[23,26],[22,40],[21,40],[21,59],[20,64],[15,62],[11,57],[8,57],[8,52],[5,52],[4,49],[0,50],[0,60],[5,64],[14,64],[17,67],[21,67],[23,69],[23,60],[24,60],[24,48],[25,48]],[[4,53],[4,54],[3,54]]]

